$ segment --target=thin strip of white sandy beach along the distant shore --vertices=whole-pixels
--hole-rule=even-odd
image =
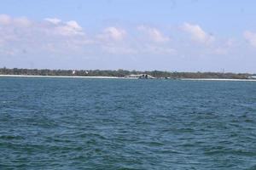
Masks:
[[[130,77],[79,77],[79,76],[38,76],[38,75],[0,75],[0,77],[42,77],[42,78],[95,78],[95,79],[137,79]],[[256,79],[232,79],[232,78],[177,78],[171,80],[182,81],[229,81],[229,82],[256,82]]]

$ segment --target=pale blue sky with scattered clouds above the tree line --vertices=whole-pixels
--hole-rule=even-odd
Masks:
[[[0,0],[0,67],[256,73],[256,1]]]

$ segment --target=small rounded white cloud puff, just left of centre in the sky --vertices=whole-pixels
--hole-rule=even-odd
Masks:
[[[124,29],[110,26],[105,28],[102,34],[97,37],[105,41],[122,41],[126,35],[127,33]]]

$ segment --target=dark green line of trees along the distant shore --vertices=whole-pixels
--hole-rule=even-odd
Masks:
[[[169,71],[125,71],[125,70],[49,70],[49,69],[8,69],[0,68],[0,75],[31,75],[31,76],[81,76],[81,77],[125,77],[131,74],[148,74],[153,77],[170,78],[232,78],[247,79],[252,74],[223,72],[169,72]]]

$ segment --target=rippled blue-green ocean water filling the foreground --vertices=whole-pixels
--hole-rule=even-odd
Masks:
[[[0,169],[256,169],[256,82],[0,78]]]

